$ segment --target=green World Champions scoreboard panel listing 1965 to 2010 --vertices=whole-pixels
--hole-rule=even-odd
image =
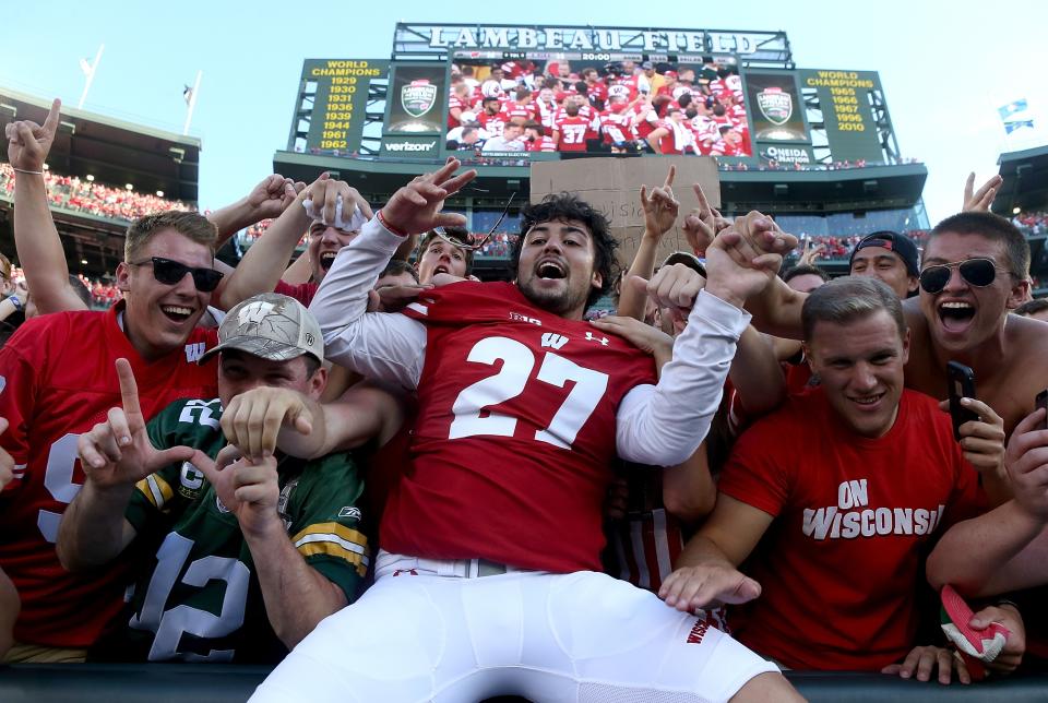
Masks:
[[[822,108],[826,140],[835,162],[882,163],[870,93],[881,91],[876,71],[798,71],[801,88],[813,88]]]

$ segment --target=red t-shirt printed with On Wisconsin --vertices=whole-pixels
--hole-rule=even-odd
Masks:
[[[880,670],[915,642],[921,555],[985,497],[938,403],[904,391],[867,439],[815,388],[743,432],[720,492],[776,517],[742,571],[761,596],[730,613],[740,642],[796,669]]]

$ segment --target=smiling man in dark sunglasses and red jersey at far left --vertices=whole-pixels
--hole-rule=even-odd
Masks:
[[[76,438],[119,402],[119,357],[139,379],[147,418],[178,398],[214,396],[215,367],[196,361],[215,333],[196,322],[222,278],[216,236],[196,213],[135,221],[117,266],[121,302],[35,318],[0,349],[0,417],[10,420],[0,445],[19,469],[0,493],[0,568],[22,597],[9,658],[80,659],[120,608],[121,565],[70,574],[55,555],[62,512],[84,480]]]

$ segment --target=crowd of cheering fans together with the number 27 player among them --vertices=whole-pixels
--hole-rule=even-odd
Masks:
[[[1029,246],[986,212],[997,180],[927,233],[807,239],[847,257],[827,281],[814,255],[776,275],[801,241],[760,213],[698,187],[679,212],[671,176],[620,276],[571,194],[478,236],[441,211],[476,176],[454,160],[373,204],[273,175],[133,221],[126,295],[90,312],[114,289],[60,255],[57,123],[8,130],[41,205],[14,222],[24,270],[0,261],[0,315],[28,318],[0,348],[11,660],[277,665],[259,701],[1045,669],[1044,594],[1015,592],[1048,584],[1048,327],[1011,312]],[[671,230],[689,250],[656,265]],[[478,252],[515,281],[471,279]]]

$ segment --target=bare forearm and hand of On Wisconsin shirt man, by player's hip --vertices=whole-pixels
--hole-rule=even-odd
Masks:
[[[684,545],[658,596],[683,612],[760,596],[761,585],[743,575],[738,565],[757,547],[772,520],[764,511],[719,493],[713,514]]]

